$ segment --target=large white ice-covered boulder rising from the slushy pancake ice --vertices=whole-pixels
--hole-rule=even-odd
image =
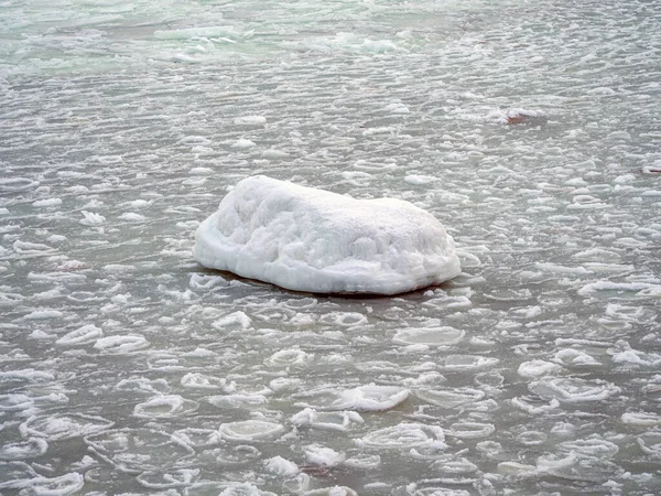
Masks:
[[[355,200],[263,175],[223,198],[193,251],[205,267],[317,293],[397,294],[460,271],[443,225],[409,202]]]

